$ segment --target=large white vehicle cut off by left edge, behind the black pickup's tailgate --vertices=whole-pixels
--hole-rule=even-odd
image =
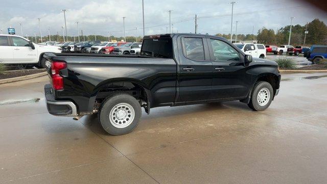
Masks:
[[[61,48],[39,45],[17,35],[0,34],[0,61],[5,64],[37,64],[46,68],[44,53],[61,53]]]

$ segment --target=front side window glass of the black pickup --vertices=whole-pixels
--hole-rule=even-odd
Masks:
[[[211,39],[215,61],[240,61],[240,54],[228,43]]]

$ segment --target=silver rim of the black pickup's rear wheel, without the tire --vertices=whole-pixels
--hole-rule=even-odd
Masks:
[[[110,123],[116,128],[128,127],[134,117],[134,108],[128,103],[117,104],[110,110]]]

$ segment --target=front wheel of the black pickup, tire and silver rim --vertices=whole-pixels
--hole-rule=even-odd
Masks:
[[[272,86],[265,81],[259,81],[254,84],[250,102],[247,104],[255,111],[262,111],[269,107],[274,95]]]

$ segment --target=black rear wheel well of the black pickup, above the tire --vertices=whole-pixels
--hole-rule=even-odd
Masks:
[[[146,89],[142,85],[131,81],[111,82],[103,85],[97,94],[95,108],[97,108],[96,106],[99,106],[106,98],[117,93],[131,95],[138,100],[139,104],[145,108],[147,113],[149,113],[150,97]]]

